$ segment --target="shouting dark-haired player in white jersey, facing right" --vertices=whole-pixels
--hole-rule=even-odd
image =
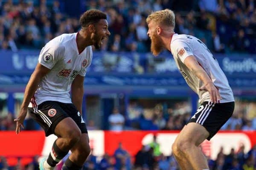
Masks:
[[[69,150],[72,153],[62,170],[81,170],[90,154],[87,128],[81,116],[83,82],[92,60],[91,45],[100,48],[102,40],[110,36],[106,19],[102,11],[86,11],[81,15],[78,33],[55,37],[41,50],[15,119],[17,134],[28,111],[46,136],[58,136],[49,157],[40,162],[40,170],[53,170]]]

